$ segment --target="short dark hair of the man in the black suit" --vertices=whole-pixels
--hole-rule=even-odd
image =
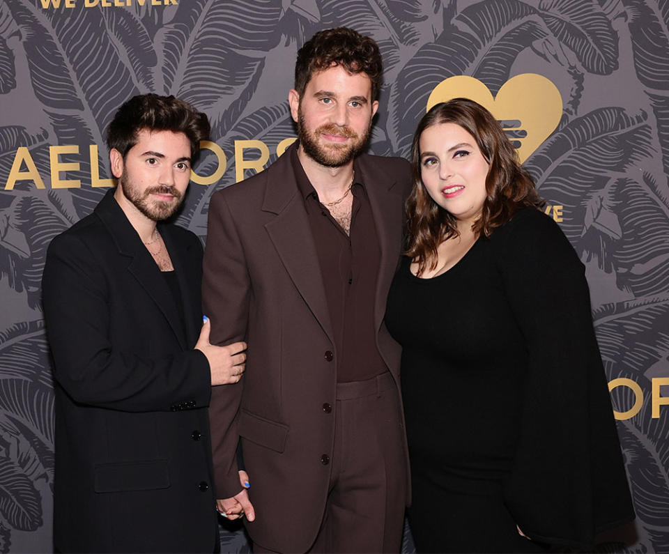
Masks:
[[[174,96],[139,94],[118,108],[107,127],[107,146],[123,158],[137,144],[141,130],[183,132],[190,141],[190,156],[200,151],[200,141],[209,139],[211,130],[206,114]]]

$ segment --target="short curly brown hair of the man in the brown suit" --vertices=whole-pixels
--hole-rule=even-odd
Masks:
[[[371,99],[376,100],[383,77],[383,61],[373,38],[348,27],[318,31],[298,50],[295,91],[300,98],[314,72],[341,66],[349,73],[365,73],[371,79]]]

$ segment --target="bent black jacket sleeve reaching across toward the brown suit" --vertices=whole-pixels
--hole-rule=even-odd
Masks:
[[[109,341],[107,278],[77,236],[66,233],[49,245],[43,308],[61,387],[79,403],[114,410],[169,411],[186,399],[208,406],[209,364],[201,351],[147,359]]]

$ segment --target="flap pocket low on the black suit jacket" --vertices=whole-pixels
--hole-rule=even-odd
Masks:
[[[95,465],[95,492],[151,491],[169,487],[167,460]]]

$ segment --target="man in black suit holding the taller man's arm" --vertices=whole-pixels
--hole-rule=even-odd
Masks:
[[[207,406],[246,345],[209,344],[202,246],[164,222],[209,129],[172,96],[125,102],[107,130],[118,187],[49,246],[57,551],[217,549]]]

